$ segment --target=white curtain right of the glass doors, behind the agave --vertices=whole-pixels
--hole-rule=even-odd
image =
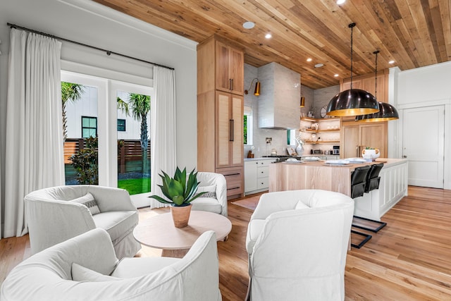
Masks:
[[[177,166],[175,162],[175,73],[174,70],[159,66],[154,67],[154,92],[151,99],[151,154],[150,170],[151,193],[163,197],[159,173],[164,171],[173,176]],[[164,198],[164,197],[163,197]],[[151,199],[150,207],[159,208],[167,205]]]

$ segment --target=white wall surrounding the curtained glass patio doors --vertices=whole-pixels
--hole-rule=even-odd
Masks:
[[[13,23],[175,68],[177,163],[188,169],[194,168],[197,161],[197,43],[93,1],[0,0],[0,8],[0,167],[4,166],[6,147],[4,141],[10,32],[6,23]],[[66,62],[63,66],[73,71],[80,71],[77,69],[83,69],[82,65],[107,68],[116,71],[116,80],[138,78],[142,80],[140,84],[152,85],[152,66],[147,63],[120,56],[106,56],[104,52],[68,42],[63,42],[61,59]],[[1,178],[4,179],[3,169]]]

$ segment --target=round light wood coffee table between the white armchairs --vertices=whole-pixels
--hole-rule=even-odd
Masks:
[[[162,249],[161,256],[183,257],[197,238],[209,230],[215,231],[217,240],[224,240],[232,230],[232,223],[221,214],[192,210],[188,226],[175,228],[169,212],[138,223],[133,235],[142,245]]]

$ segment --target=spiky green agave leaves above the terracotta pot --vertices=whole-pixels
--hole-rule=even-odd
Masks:
[[[177,167],[175,170],[174,177],[171,178],[167,173],[161,171],[163,175],[159,174],[163,185],[158,185],[161,188],[161,192],[168,199],[163,199],[158,195],[151,195],[152,199],[156,199],[157,201],[164,204],[173,204],[173,206],[187,206],[194,199],[204,195],[206,192],[200,192],[195,195],[197,186],[199,186],[200,182],[197,182],[197,173],[194,173],[194,169],[191,171],[190,176],[186,178],[186,168],[183,168],[183,171],[180,171],[180,168]]]

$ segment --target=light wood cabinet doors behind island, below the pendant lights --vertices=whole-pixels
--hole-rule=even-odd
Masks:
[[[343,121],[341,130],[340,156],[352,158],[362,156],[362,149],[379,149],[381,158],[388,153],[387,122],[358,123]]]

